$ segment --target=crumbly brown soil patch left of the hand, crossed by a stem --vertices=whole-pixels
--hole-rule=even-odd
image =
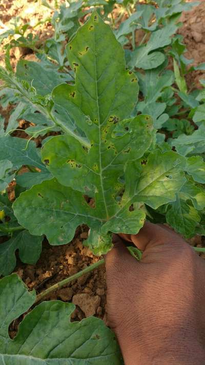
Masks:
[[[43,251],[36,265],[22,264],[18,259],[16,272],[30,290],[42,292],[54,283],[76,274],[98,261],[83,241],[88,237],[86,226],[77,229],[75,238],[68,245],[51,246],[45,239]],[[83,295],[82,295],[83,294]],[[52,292],[46,300],[59,299],[77,304],[72,319],[89,315],[105,319],[106,281],[104,266]]]

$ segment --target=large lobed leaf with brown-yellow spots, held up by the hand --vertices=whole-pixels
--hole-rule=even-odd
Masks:
[[[145,212],[130,209],[132,203],[158,207],[175,199],[185,183],[185,161],[173,151],[155,151],[143,166],[155,132],[152,120],[129,118],[136,76],[125,69],[123,50],[97,13],[67,51],[75,85],[61,84],[52,96],[83,130],[90,147],[70,135],[46,142],[42,158],[57,180],[32,187],[13,208],[20,224],[34,235],[46,234],[51,244],[68,243],[79,224],[88,224],[87,244],[100,255],[112,245],[110,232],[135,234],[143,225]],[[94,207],[86,196],[94,198]]]

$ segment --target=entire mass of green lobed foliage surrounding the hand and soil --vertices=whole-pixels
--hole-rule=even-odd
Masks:
[[[204,64],[190,67],[175,35],[181,11],[197,3],[44,5],[53,11],[46,42],[19,20],[1,35],[0,104],[9,118],[0,117],[0,274],[14,270],[17,250],[34,264],[44,235],[50,244],[67,244],[83,223],[90,228],[84,244],[96,255],[112,247],[112,233],[136,234],[145,219],[167,222],[186,238],[204,235],[205,92],[186,82]],[[37,59],[20,59],[14,72],[16,46]],[[15,137],[19,128],[26,139]],[[2,279],[0,290],[0,315],[8,315],[0,341],[5,364],[121,363],[110,330],[96,318],[70,323],[69,303],[39,304],[11,340],[10,322],[29,310],[35,294],[16,275]],[[39,333],[49,335],[39,341]]]

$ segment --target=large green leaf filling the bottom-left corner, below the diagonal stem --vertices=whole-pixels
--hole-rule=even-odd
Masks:
[[[17,275],[0,281],[0,361],[4,365],[120,365],[114,334],[95,317],[70,322],[74,304],[57,300],[40,303],[25,316],[16,337],[8,327],[35,301]]]

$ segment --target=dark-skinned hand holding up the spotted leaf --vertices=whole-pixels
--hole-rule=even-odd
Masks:
[[[204,365],[204,260],[166,226],[120,236],[106,255],[107,311],[125,365]]]

